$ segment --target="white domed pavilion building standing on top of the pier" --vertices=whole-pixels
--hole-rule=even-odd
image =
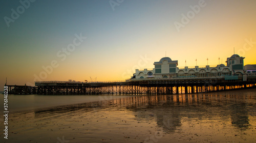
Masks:
[[[199,68],[185,67],[179,69],[178,61],[172,61],[168,57],[162,58],[159,62],[155,62],[153,70],[144,69],[142,71],[136,69],[132,78],[135,79],[172,79],[172,78],[193,78],[193,77],[217,77],[217,76],[231,76],[243,75],[246,73],[244,70],[244,58],[238,54],[233,54],[227,58],[227,65],[217,65],[216,67],[205,66]]]

